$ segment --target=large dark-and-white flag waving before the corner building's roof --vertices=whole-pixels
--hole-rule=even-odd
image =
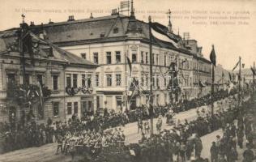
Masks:
[[[151,23],[151,33],[157,40],[171,43],[173,46],[178,47],[178,40],[167,34],[168,29],[160,23]]]

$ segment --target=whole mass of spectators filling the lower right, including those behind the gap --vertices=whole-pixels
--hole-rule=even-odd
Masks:
[[[212,142],[211,161],[235,162],[238,160],[237,147],[247,147],[243,152],[243,162],[252,162],[256,159],[252,151],[256,148],[255,101],[254,104],[249,100],[237,106],[237,98],[234,97],[229,98],[229,102],[236,106],[220,109],[213,117],[199,115],[194,121],[179,122],[172,130],[150,137],[143,134],[139,146],[133,147],[135,161],[210,161],[200,156],[203,145],[199,137],[222,129],[223,136],[217,135]]]

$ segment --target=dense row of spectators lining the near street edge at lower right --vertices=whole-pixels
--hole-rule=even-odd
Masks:
[[[231,99],[233,100],[233,99]],[[198,116],[197,119],[183,124],[178,122],[172,130],[161,131],[147,137],[143,134],[139,147],[136,150],[137,161],[186,161],[203,160],[200,154],[203,150],[201,136],[209,134],[214,130],[223,128],[224,123],[232,122],[236,111],[228,109],[219,111],[214,117],[209,115]]]

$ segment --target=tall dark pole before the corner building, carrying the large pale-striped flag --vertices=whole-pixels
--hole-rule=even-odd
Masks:
[[[148,25],[149,25],[149,74],[150,74],[150,102],[149,102],[149,109],[150,109],[150,128],[151,134],[154,134],[154,123],[153,123],[153,59],[152,59],[152,34],[151,34],[151,16],[148,16]]]

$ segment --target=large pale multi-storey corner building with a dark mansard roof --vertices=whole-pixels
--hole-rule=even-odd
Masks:
[[[113,12],[109,16],[93,18],[91,15],[89,19],[79,20],[69,16],[66,22],[36,26],[32,23],[31,28],[45,40],[99,65],[94,79],[97,108],[124,110],[126,106],[127,109],[134,109],[147,104],[150,80],[149,25],[135,19],[134,11],[130,16]],[[211,63],[203,58],[202,48],[194,52],[197,44],[191,41],[186,45],[181,36],[173,33],[170,21],[169,26],[164,28],[177,45],[153,39],[154,104],[197,97],[198,93],[202,93],[202,90],[198,90],[199,81],[209,83],[211,78]],[[132,71],[127,66],[126,57],[130,58]],[[169,88],[173,83],[172,74],[169,74],[172,62],[175,62],[178,70],[180,92]],[[141,93],[132,97],[126,105],[130,74],[139,79]]]

